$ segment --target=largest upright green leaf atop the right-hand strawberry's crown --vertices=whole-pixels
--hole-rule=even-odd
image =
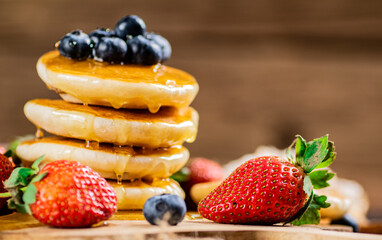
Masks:
[[[328,135],[307,143],[304,160],[301,167],[306,173],[313,171],[328,153]]]

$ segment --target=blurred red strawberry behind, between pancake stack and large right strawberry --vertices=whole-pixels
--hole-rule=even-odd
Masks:
[[[195,158],[188,168],[191,185],[219,181],[224,178],[223,168],[217,162],[206,158]]]

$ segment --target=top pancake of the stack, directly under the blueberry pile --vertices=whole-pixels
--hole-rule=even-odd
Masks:
[[[164,66],[119,65],[93,59],[76,61],[51,51],[37,62],[48,88],[70,102],[114,108],[187,107],[199,86],[191,75]]]

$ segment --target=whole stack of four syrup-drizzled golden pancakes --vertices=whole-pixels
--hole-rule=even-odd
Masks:
[[[195,79],[164,65],[138,66],[77,61],[58,51],[44,54],[37,71],[64,100],[35,99],[24,113],[38,138],[21,143],[23,165],[66,159],[88,165],[116,189],[118,209],[141,209],[151,196],[184,197],[169,179],[189,158],[198,113],[190,103]],[[57,136],[42,137],[41,129]]]

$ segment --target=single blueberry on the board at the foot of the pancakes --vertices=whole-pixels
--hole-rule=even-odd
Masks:
[[[171,194],[151,197],[143,206],[143,216],[152,225],[159,225],[162,220],[170,225],[176,225],[184,219],[186,211],[183,199]]]

